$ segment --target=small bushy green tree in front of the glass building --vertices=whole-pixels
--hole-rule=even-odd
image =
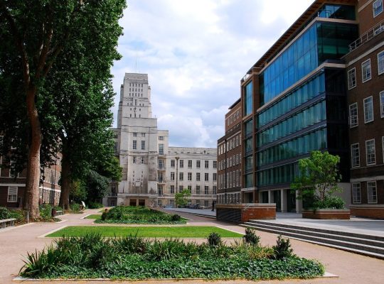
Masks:
[[[327,151],[312,151],[309,158],[299,160],[299,176],[292,182],[291,189],[298,190],[299,198],[306,207],[324,207],[335,192],[341,192],[337,183],[341,180],[337,165],[340,163],[338,155],[331,155]],[[336,203],[338,201],[335,200]]]

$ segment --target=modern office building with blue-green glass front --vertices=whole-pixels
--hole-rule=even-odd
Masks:
[[[358,38],[355,1],[315,1],[242,80],[244,187],[255,202],[299,211],[289,190],[297,161],[314,150],[341,156],[349,175],[345,64]],[[252,96],[250,95],[252,94]]]

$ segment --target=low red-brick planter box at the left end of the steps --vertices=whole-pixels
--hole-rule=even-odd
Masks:
[[[276,219],[275,203],[218,204],[216,219],[243,223],[250,219]]]

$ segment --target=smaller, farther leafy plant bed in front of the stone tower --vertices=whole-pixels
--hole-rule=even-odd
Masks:
[[[102,214],[96,223],[109,224],[185,224],[178,214],[166,214],[148,207],[117,206]]]

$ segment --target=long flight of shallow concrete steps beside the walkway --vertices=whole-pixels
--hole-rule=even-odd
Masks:
[[[251,227],[260,231],[289,236],[292,239],[308,241],[321,246],[360,253],[366,256],[384,259],[384,237],[366,234],[333,231],[330,229],[309,228],[290,224],[279,224],[250,220],[241,226]]]

